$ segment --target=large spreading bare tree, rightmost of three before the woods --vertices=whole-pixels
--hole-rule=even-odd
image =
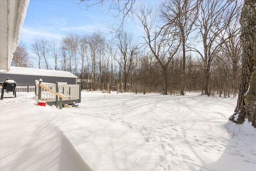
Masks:
[[[239,0],[203,0],[200,3],[200,15],[196,26],[202,38],[204,53],[194,50],[200,54],[204,62],[205,81],[202,87],[202,95],[210,95],[208,84],[212,60],[218,54],[222,45],[229,39],[222,39],[220,35],[225,34],[227,26],[237,18],[240,6]]]

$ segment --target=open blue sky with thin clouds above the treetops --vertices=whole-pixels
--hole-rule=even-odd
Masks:
[[[100,31],[109,33],[109,24],[118,22],[118,19],[110,17],[104,9],[98,6],[84,10],[84,6],[78,5],[78,0],[30,0],[26,18],[22,28],[20,42],[29,47],[35,38],[45,38],[47,40],[60,41],[62,37],[69,33],[91,34]],[[122,2],[122,1],[121,1]],[[148,1],[136,1],[136,5]],[[149,1],[151,4],[160,2],[158,0]],[[111,1],[104,4],[105,10],[110,6]],[[128,32],[133,32],[135,36],[141,35],[140,26],[134,23],[127,24]],[[136,35],[137,34],[137,35]],[[112,36],[107,36],[110,39]]]

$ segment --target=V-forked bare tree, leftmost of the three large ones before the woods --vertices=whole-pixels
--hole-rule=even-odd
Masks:
[[[160,19],[157,18],[157,12],[152,9],[142,6],[140,8],[140,14],[138,14],[138,19],[144,28],[143,38],[146,45],[154,54],[154,57],[162,69],[164,77],[163,90],[164,94],[167,95],[168,67],[172,58],[178,52],[178,48],[181,44],[180,37],[176,29],[165,30],[164,27],[159,28],[156,21]]]

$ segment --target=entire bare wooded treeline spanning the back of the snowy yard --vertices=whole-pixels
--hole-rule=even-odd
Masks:
[[[112,90],[120,84],[119,89],[136,93],[198,91],[235,97],[241,80],[241,6],[240,0],[140,6],[133,14],[142,26],[142,40],[124,30],[112,40],[101,32],[70,33],[60,42],[35,38],[32,67],[72,72],[82,89],[107,89],[109,83]],[[23,52],[21,44],[12,66],[28,66],[30,54]]]

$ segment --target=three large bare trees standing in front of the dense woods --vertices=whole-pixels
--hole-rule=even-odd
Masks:
[[[144,40],[162,67],[164,93],[167,94],[168,66],[177,52],[182,52],[180,93],[184,95],[186,50],[197,52],[203,62],[202,94],[210,94],[210,70],[214,58],[220,56],[239,34],[240,1],[169,0],[156,10],[142,6],[138,18],[144,28]],[[159,14],[160,13],[160,14]],[[191,35],[194,36],[191,37]],[[238,40],[238,39],[236,39]],[[194,48],[202,42],[202,50]],[[231,42],[237,44],[238,42]],[[239,53],[239,52],[234,52]],[[239,55],[239,54],[238,54]],[[239,56],[236,56],[239,58]],[[234,57],[235,58],[235,57]]]

